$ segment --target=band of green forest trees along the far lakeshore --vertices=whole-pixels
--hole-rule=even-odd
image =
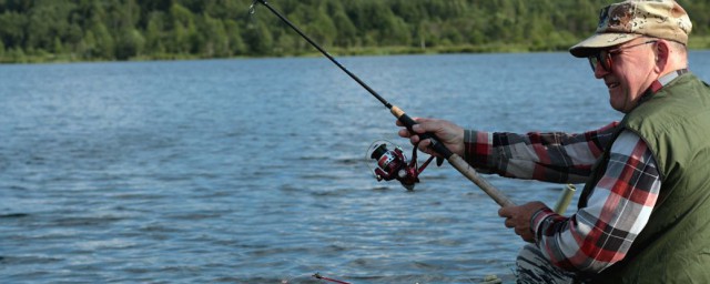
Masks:
[[[341,53],[565,50],[609,0],[273,0]],[[679,1],[693,36],[710,0]],[[300,55],[313,49],[252,0],[0,0],[0,62]],[[710,48],[702,43],[700,48]]]

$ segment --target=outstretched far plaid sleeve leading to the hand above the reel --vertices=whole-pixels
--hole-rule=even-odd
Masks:
[[[481,173],[557,183],[586,182],[618,123],[581,134],[467,130],[464,159]]]

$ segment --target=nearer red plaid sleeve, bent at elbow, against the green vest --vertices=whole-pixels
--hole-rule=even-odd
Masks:
[[[540,251],[565,270],[599,272],[622,260],[656,205],[660,175],[646,142],[625,131],[610,151],[586,207],[570,217],[545,209],[531,219]]]

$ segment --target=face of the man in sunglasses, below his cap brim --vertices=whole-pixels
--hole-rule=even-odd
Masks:
[[[609,103],[617,111],[628,113],[656,78],[653,68],[656,41],[639,38],[601,51],[595,77],[602,79],[609,90]],[[605,68],[604,65],[608,65]]]

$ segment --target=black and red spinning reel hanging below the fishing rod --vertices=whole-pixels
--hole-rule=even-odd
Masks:
[[[387,149],[388,145],[392,149]],[[414,184],[419,182],[419,174],[434,160],[434,156],[429,156],[419,166],[417,163],[417,148],[415,146],[412,151],[412,161],[407,163],[407,156],[404,155],[402,148],[387,141],[373,142],[367,150],[367,155],[376,161],[376,168],[373,173],[378,182],[382,180],[397,180],[409,191],[414,190]]]

